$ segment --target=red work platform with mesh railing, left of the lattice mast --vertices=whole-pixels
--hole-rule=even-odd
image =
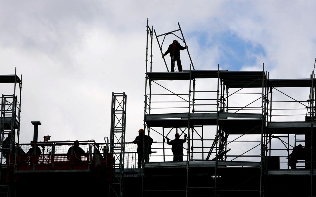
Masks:
[[[94,141],[19,144],[15,148],[16,170],[91,170],[107,163],[104,144]]]

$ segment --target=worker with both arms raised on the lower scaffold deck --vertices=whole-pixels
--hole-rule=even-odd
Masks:
[[[180,134],[176,133],[174,135],[176,139],[169,142],[167,138],[167,144],[172,145],[171,150],[173,153],[173,161],[183,161],[183,143],[186,142],[186,134],[184,134],[184,139],[180,139]]]

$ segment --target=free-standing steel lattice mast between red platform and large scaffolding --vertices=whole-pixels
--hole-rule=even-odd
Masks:
[[[110,184],[113,191],[119,185],[119,195],[123,196],[124,178],[124,153],[125,153],[125,129],[126,129],[126,94],[112,92],[111,107],[111,138],[110,153],[115,157],[113,169],[119,169],[119,176],[114,171],[114,175],[119,183]]]

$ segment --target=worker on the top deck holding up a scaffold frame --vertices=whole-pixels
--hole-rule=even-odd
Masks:
[[[184,50],[187,48],[188,48],[188,46],[186,46],[186,45],[185,45],[185,47],[181,46],[181,44],[179,44],[178,40],[173,40],[172,44],[169,45],[166,53],[161,54],[161,56],[164,57],[168,53],[170,53],[171,72],[174,72],[174,61],[177,61],[178,70],[182,71],[182,65],[181,65],[181,60],[180,60],[180,50]]]

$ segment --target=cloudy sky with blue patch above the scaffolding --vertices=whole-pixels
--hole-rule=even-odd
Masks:
[[[180,23],[198,70],[217,64],[262,70],[264,63],[270,79],[309,78],[315,7],[314,1],[0,0],[1,74],[17,67],[23,76],[21,142],[32,140],[31,121],[42,123],[39,138],[103,142],[110,134],[111,94],[123,91],[126,141],[133,140],[143,127],[147,18],[157,34]],[[173,39],[166,38],[163,51]],[[155,39],[153,71],[166,71]],[[12,94],[12,84],[0,90]]]

